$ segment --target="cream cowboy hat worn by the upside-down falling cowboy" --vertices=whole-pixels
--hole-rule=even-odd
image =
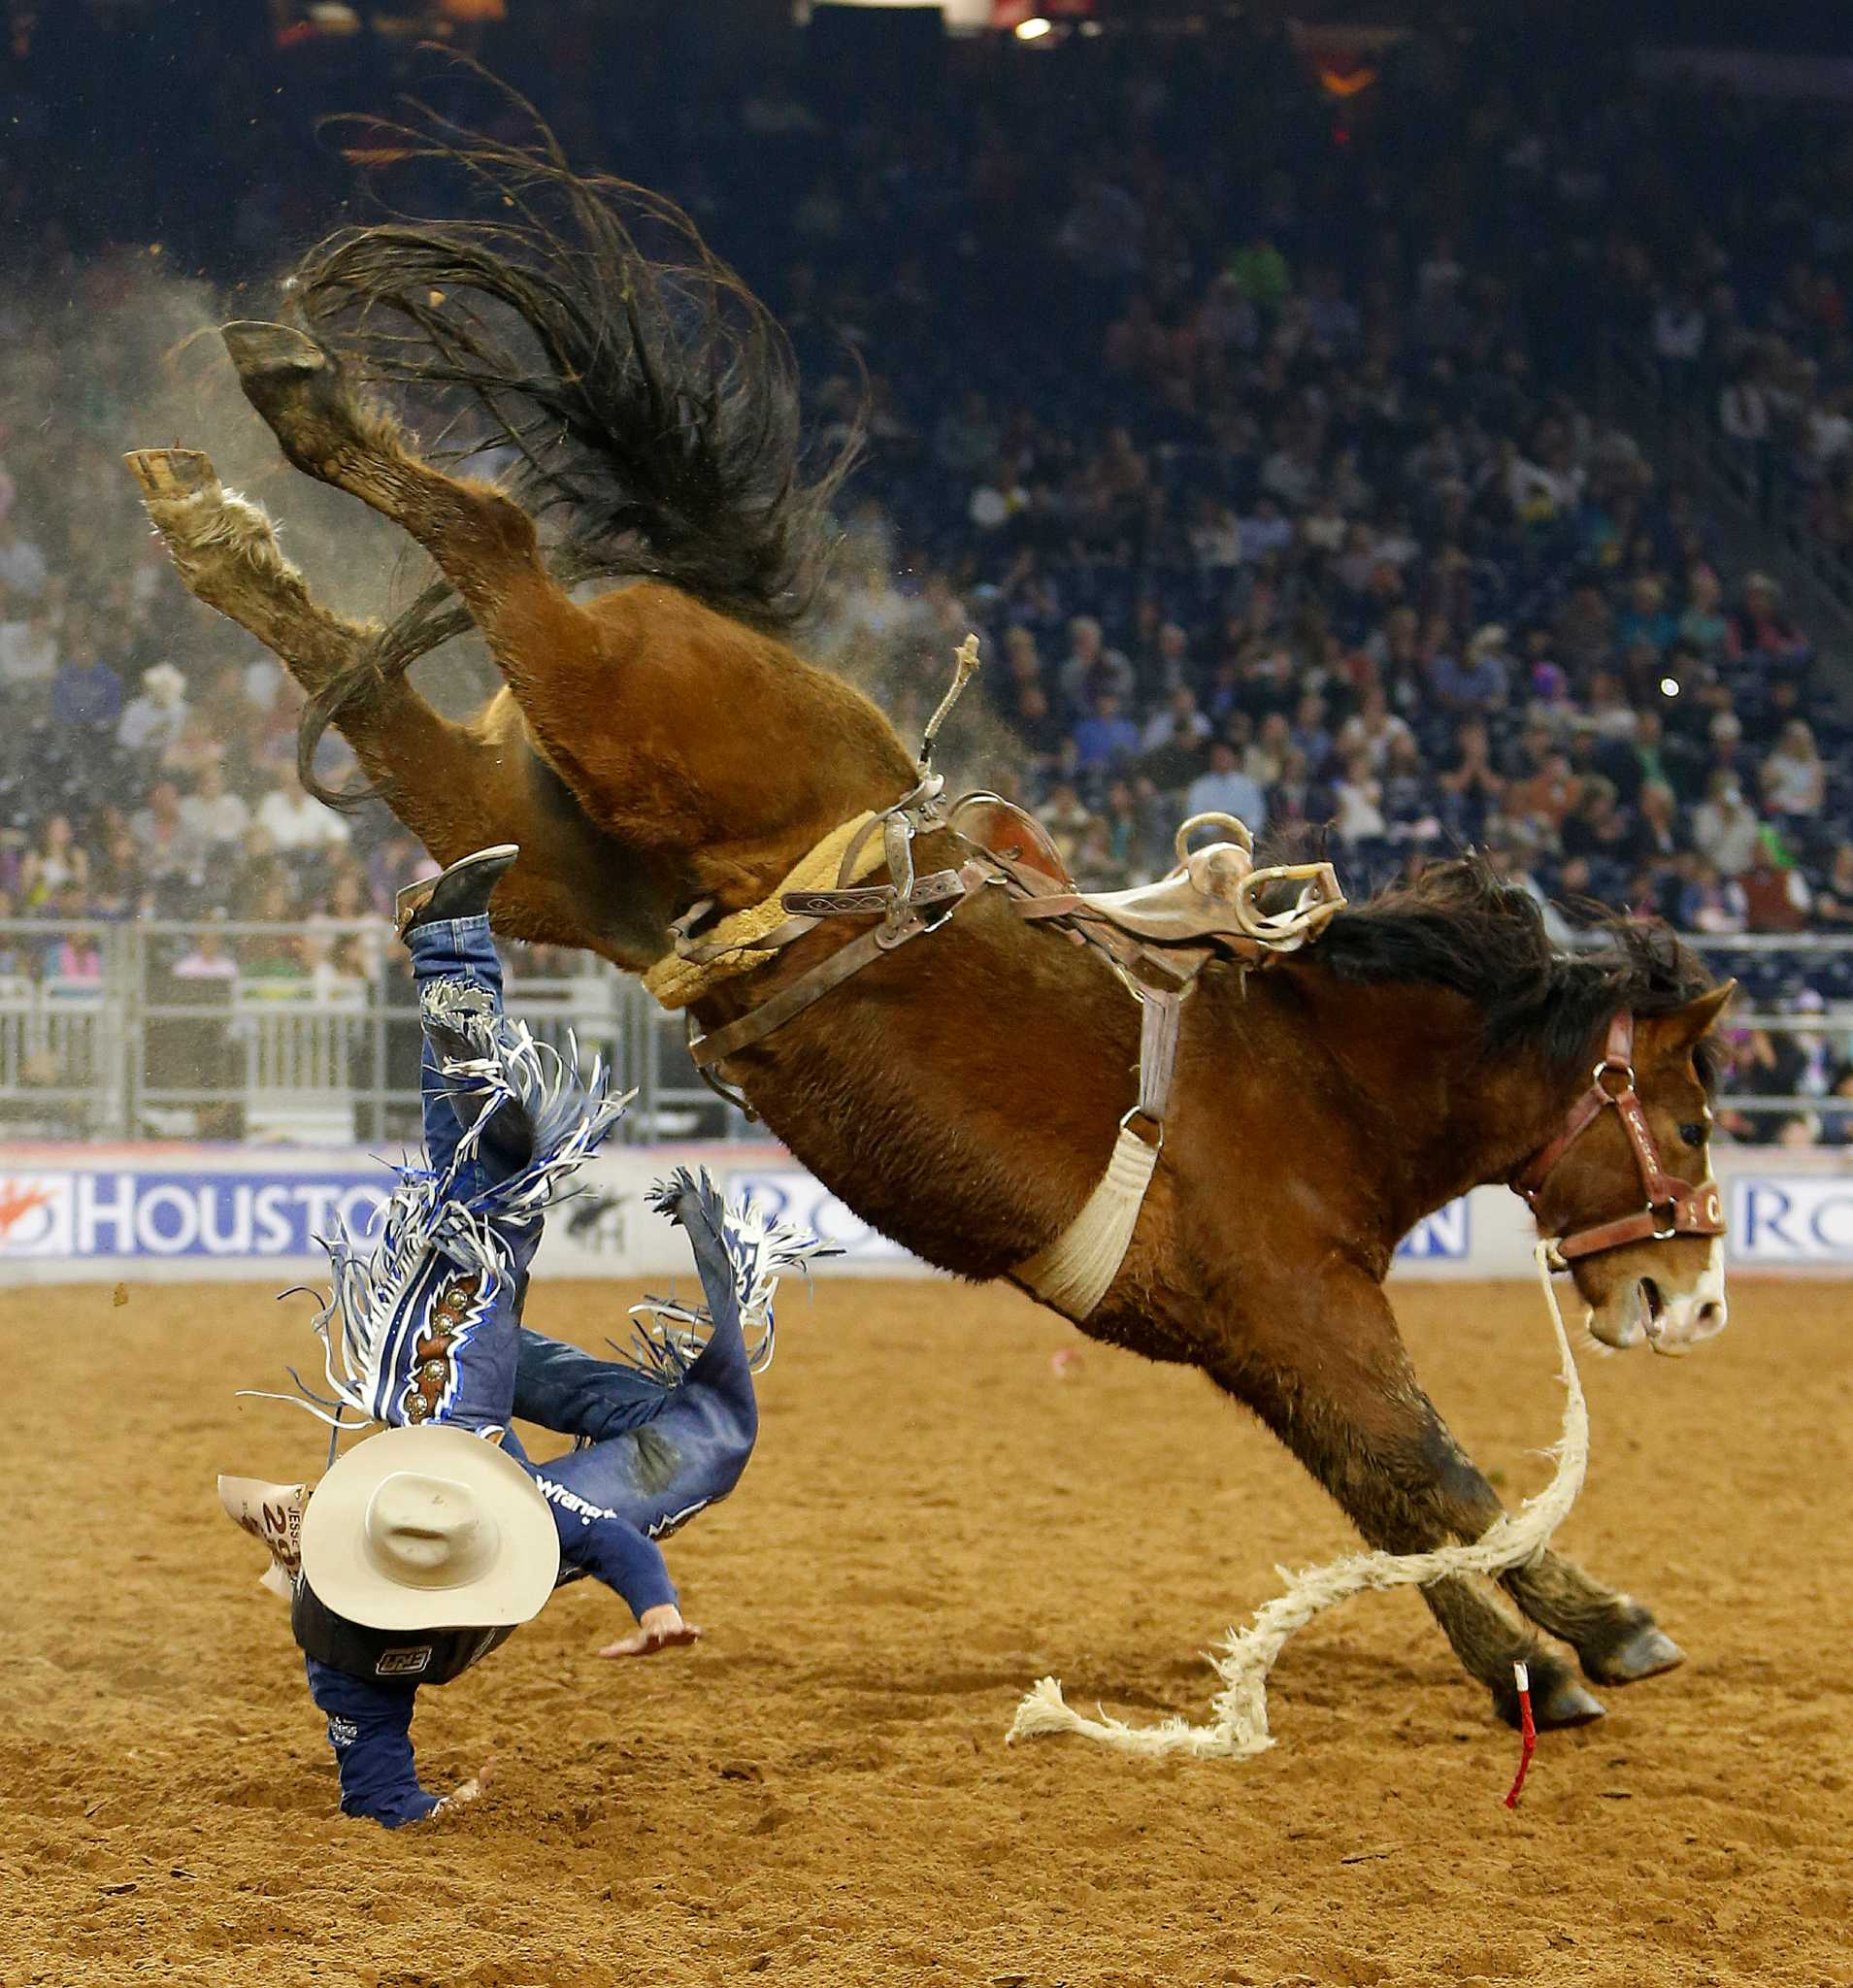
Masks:
[[[302,1574],[366,1628],[501,1628],[537,1616],[561,1565],[533,1477],[467,1429],[386,1429],[310,1493]]]

